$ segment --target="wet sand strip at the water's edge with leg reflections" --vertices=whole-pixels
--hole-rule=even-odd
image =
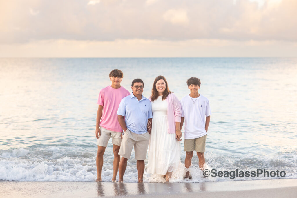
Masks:
[[[297,179],[204,183],[0,181],[1,197],[296,197]]]

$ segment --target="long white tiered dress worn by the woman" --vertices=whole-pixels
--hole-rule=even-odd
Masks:
[[[148,173],[165,175],[175,171],[181,161],[181,143],[168,134],[167,100],[162,96],[151,102],[153,120],[149,141]]]

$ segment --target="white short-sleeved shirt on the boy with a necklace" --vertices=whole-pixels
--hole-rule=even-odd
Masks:
[[[195,104],[194,104],[194,102]],[[185,140],[206,135],[206,117],[211,115],[209,101],[206,97],[191,98],[188,94],[181,99],[181,117],[185,122]]]

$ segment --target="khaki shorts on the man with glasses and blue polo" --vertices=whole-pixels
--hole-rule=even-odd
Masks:
[[[119,151],[119,155],[130,159],[132,148],[134,146],[135,159],[145,160],[149,145],[149,133],[136,134],[129,129],[123,133],[123,141]]]

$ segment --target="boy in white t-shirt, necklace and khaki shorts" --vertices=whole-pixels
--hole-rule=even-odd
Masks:
[[[206,133],[211,115],[209,101],[206,97],[198,94],[201,85],[199,78],[189,78],[187,85],[190,94],[181,99],[181,127],[185,121],[184,151],[187,152],[185,167],[188,169],[191,166],[195,150],[199,159],[199,168],[203,170]],[[188,170],[185,178],[191,178]]]

